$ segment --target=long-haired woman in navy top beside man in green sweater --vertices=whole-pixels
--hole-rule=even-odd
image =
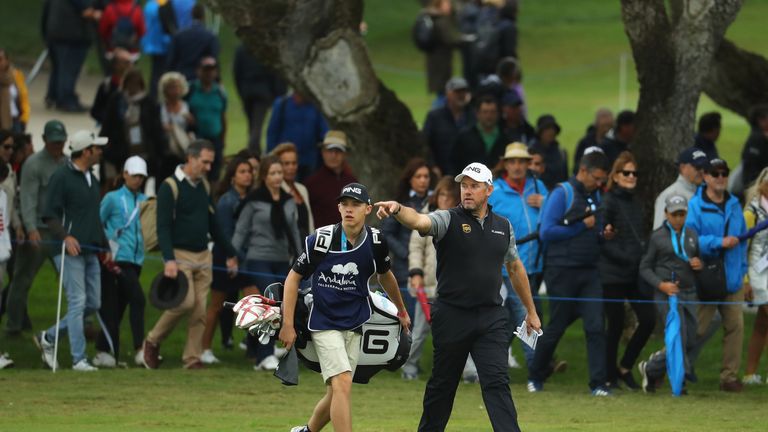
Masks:
[[[250,192],[253,185],[253,172],[247,159],[234,157],[229,161],[224,178],[218,184],[216,196],[216,222],[221,227],[223,234],[232,239],[235,234],[235,213]],[[238,249],[238,251],[241,251]],[[239,255],[242,262],[244,256]],[[216,332],[216,323],[222,315],[224,301],[237,300],[240,290],[250,286],[250,280],[243,274],[230,278],[227,272],[220,271],[226,267],[226,253],[221,248],[213,247],[213,282],[211,283],[211,301],[205,317],[205,333],[203,333],[203,355],[200,361],[205,364],[218,363],[219,359],[211,351],[213,334]],[[232,346],[232,316],[228,322],[221,323],[221,342],[225,348]]]

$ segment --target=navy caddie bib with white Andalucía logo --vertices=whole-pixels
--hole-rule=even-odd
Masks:
[[[373,242],[378,230],[365,227],[365,239],[346,252],[330,250],[333,225],[318,228],[312,247],[325,258],[312,274],[309,329],[352,330],[371,317],[368,279],[376,273]]]

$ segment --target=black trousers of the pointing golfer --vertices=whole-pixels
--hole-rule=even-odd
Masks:
[[[434,366],[424,392],[419,431],[445,430],[467,355],[477,366],[483,402],[496,432],[519,431],[507,374],[508,313],[503,306],[432,306]]]

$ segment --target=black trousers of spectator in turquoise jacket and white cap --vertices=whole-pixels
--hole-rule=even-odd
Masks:
[[[144,342],[144,306],[146,304],[144,291],[139,283],[141,267],[126,262],[119,262],[117,265],[122,270],[119,275],[103,267],[101,269],[101,309],[99,309],[99,316],[107,326],[107,332],[112,339],[116,359],[120,353],[120,322],[129,305],[133,348],[141,349]],[[110,352],[109,342],[103,332],[96,340],[96,349]]]

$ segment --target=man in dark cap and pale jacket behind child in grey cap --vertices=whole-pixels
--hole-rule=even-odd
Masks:
[[[679,175],[674,183],[661,191],[656,197],[656,203],[653,206],[653,229],[656,230],[664,223],[664,208],[667,198],[671,196],[681,196],[691,201],[696,188],[702,181],[702,170],[709,164],[707,154],[696,147],[688,147],[677,156],[677,167]]]

